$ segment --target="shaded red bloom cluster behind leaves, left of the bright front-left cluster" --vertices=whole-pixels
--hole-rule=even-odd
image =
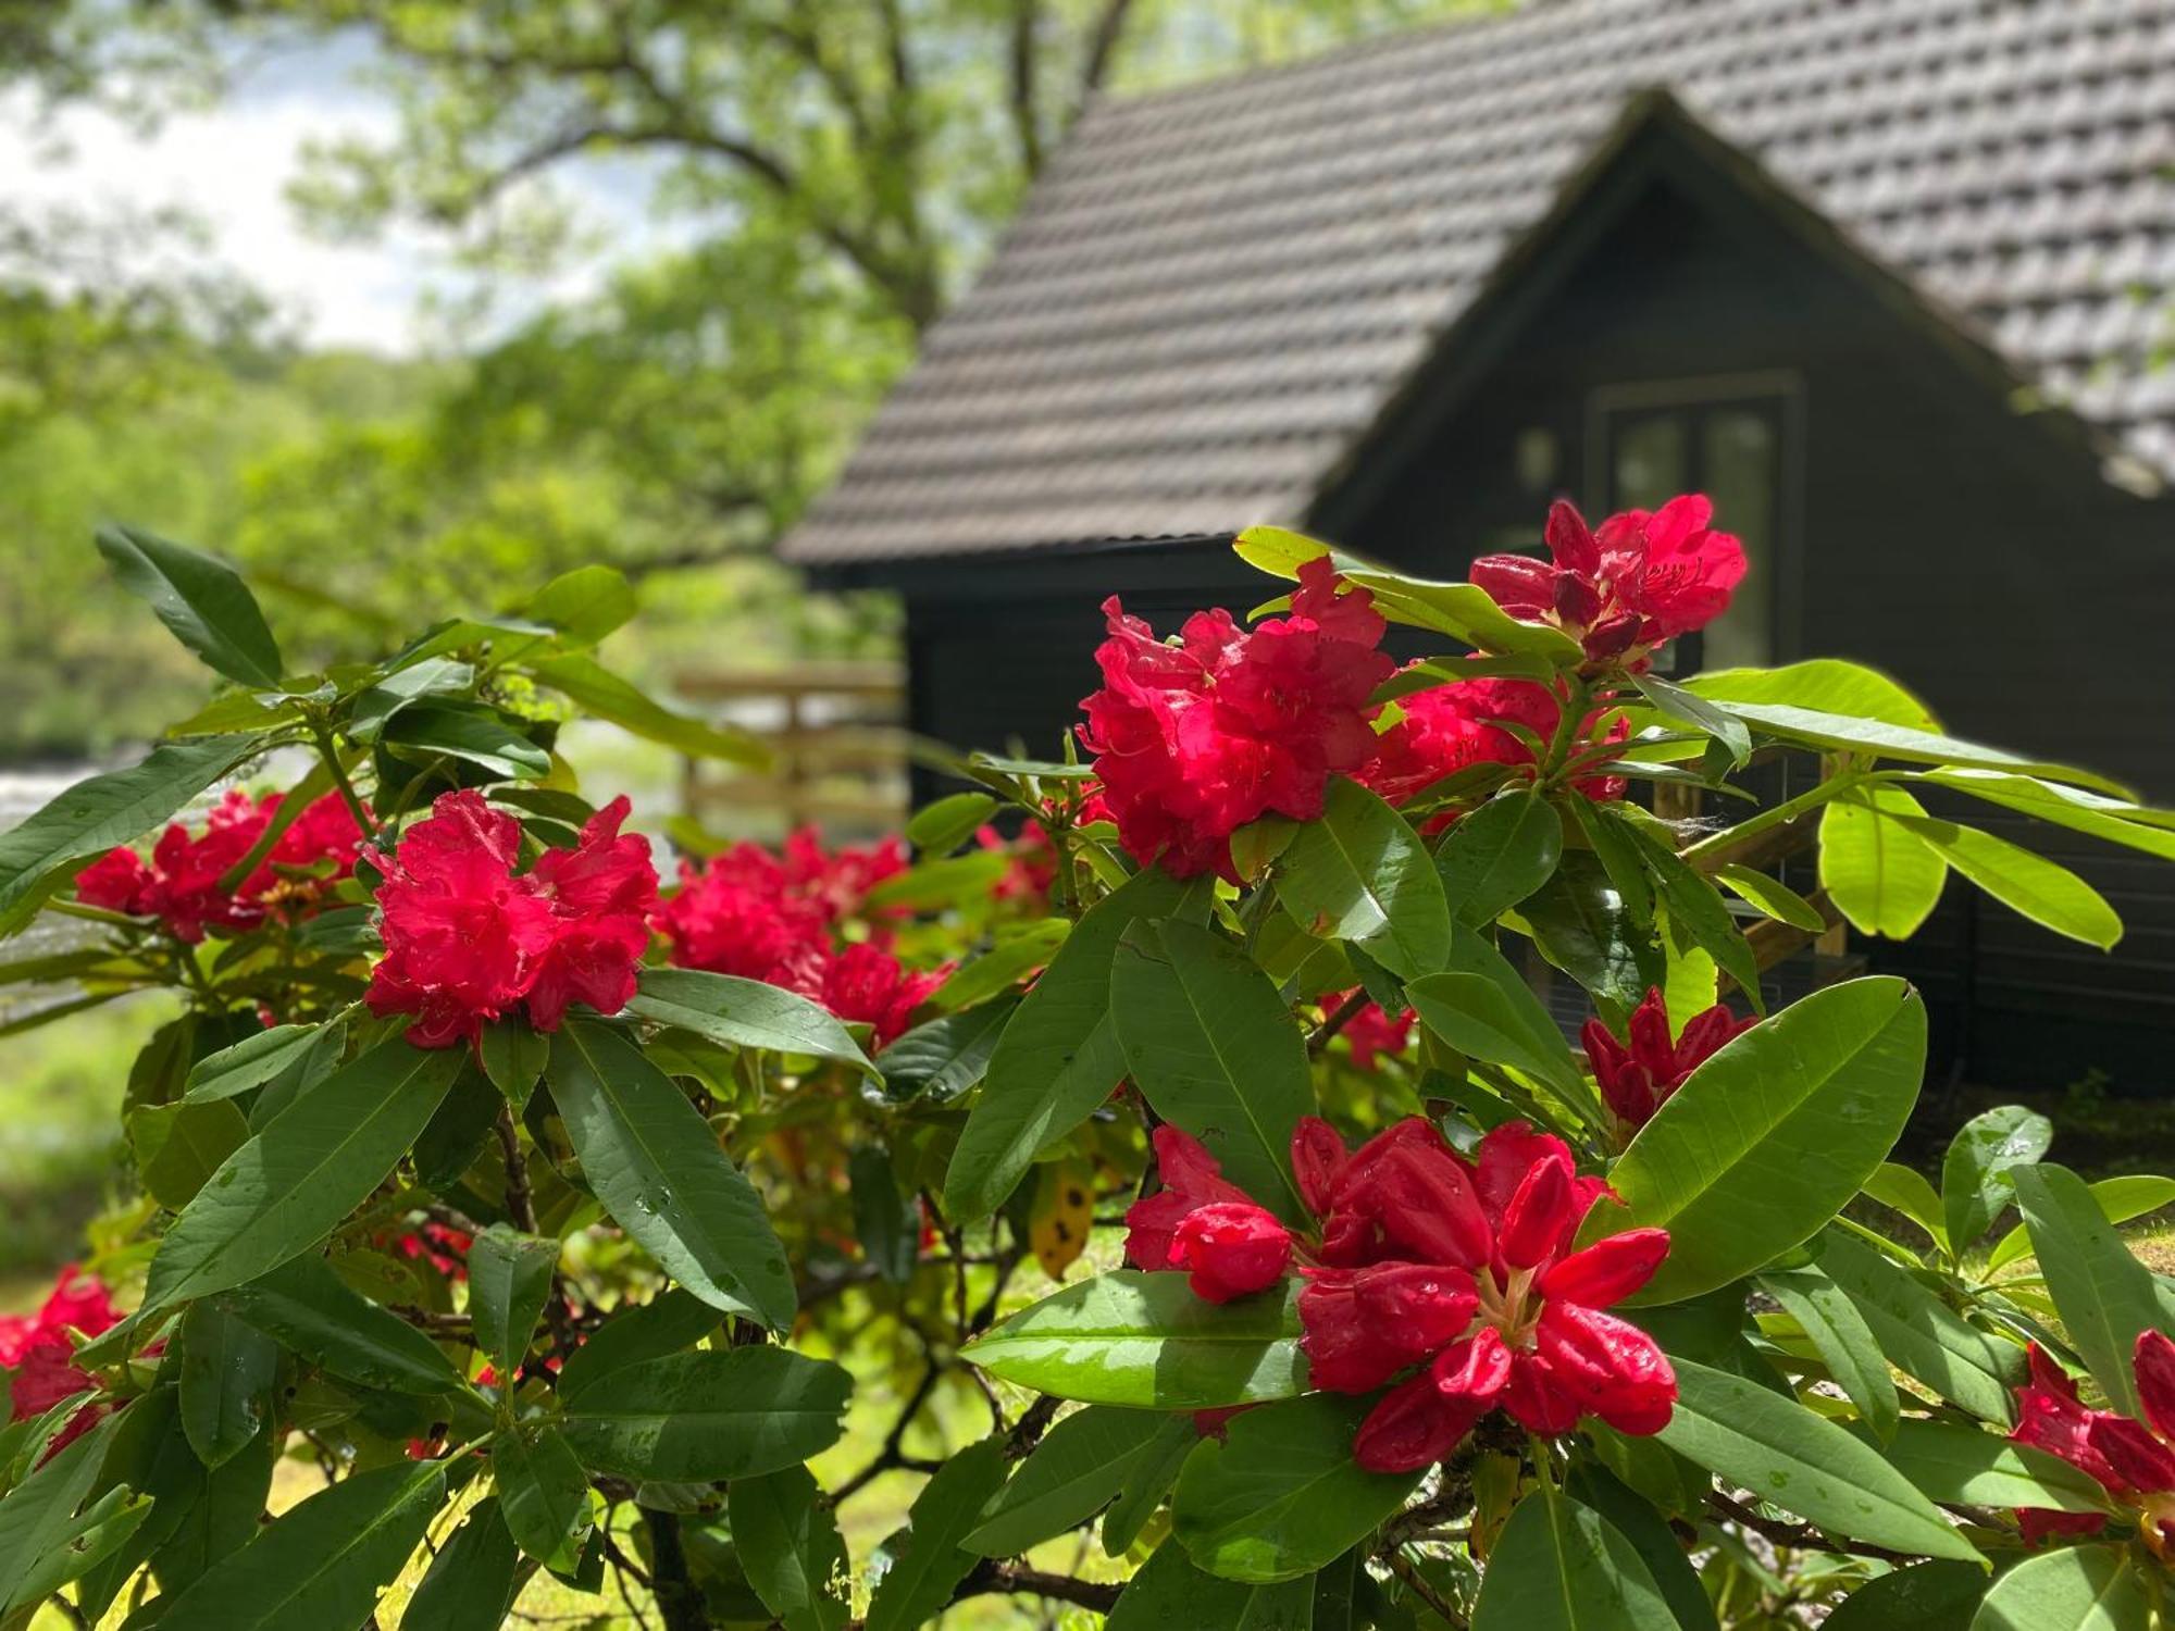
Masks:
[[[355,852],[363,844],[352,811],[337,794],[309,805],[239,889],[220,887],[220,879],[263,837],[278,807],[281,794],[252,800],[235,787],[211,811],[204,831],[170,824],[150,861],[126,844],[107,850],[76,876],[76,898],[104,911],[157,918],[174,939],[191,946],[207,933],[246,933],[274,907],[309,905],[328,883],[355,870]]]

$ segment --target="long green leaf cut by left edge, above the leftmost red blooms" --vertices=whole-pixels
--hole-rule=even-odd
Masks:
[[[78,781],[0,833],[0,935],[26,924],[74,863],[172,820],[254,752],[254,735],[161,742],[141,763]]]

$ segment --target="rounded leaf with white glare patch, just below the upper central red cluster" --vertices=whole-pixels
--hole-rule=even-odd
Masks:
[[[1451,907],[1427,846],[1353,781],[1333,779],[1320,818],[1283,850],[1277,900],[1307,933],[1357,942],[1405,979],[1442,968],[1451,950]]]

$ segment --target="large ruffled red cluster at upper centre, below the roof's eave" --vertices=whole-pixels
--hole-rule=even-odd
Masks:
[[[1327,557],[1298,570],[1290,618],[1251,631],[1229,611],[1196,611],[1166,646],[1116,596],[1103,613],[1103,689],[1081,705],[1081,742],[1142,861],[1231,876],[1233,831],[1320,816],[1329,776],[1375,752],[1368,698],[1396,665],[1377,650],[1385,624],[1372,596],[1340,596]]]

